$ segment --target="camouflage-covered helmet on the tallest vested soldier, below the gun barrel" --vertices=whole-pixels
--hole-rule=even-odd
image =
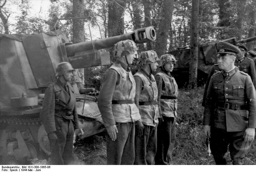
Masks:
[[[138,50],[138,48],[132,40],[119,41],[115,44],[114,57],[132,54],[136,50]]]

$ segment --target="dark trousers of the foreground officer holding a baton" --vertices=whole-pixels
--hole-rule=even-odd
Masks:
[[[250,147],[241,149],[244,144],[244,131],[241,132],[227,132],[223,129],[211,127],[210,148],[217,165],[227,165],[224,157],[225,153],[230,152],[230,157],[234,165],[244,164],[244,154],[249,151]],[[240,151],[240,152],[239,152]],[[242,151],[242,153],[241,153]],[[239,152],[239,154],[238,154]],[[241,154],[240,154],[241,153]]]

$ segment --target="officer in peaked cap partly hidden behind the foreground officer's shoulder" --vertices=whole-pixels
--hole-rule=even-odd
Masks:
[[[237,66],[240,71],[243,71],[244,73],[247,73],[251,76],[254,88],[256,88],[255,64],[252,59],[244,57],[244,53],[247,51],[247,47],[242,43],[237,43],[236,47],[240,49],[240,53],[236,54],[235,66]]]

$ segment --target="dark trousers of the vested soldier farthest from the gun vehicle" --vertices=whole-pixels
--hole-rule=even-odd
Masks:
[[[172,159],[172,150],[176,133],[175,118],[163,116],[163,120],[159,119],[159,124],[157,126],[155,165],[168,165],[171,163]]]

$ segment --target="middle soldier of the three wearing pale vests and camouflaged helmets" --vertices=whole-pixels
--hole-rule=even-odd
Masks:
[[[136,82],[135,104],[139,108],[144,127],[135,125],[135,161],[134,165],[152,165],[156,155],[156,126],[159,111],[157,105],[157,85],[152,72],[159,61],[155,51],[140,54],[139,71],[134,75]]]

